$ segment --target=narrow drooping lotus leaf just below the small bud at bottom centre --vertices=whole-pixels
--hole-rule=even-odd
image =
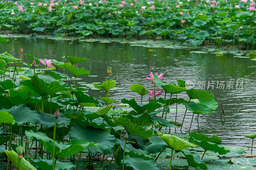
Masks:
[[[116,139],[117,143],[120,144],[120,147],[124,151],[124,141],[121,139]],[[135,149],[131,144],[126,144],[125,153],[132,157],[141,157],[144,160],[152,160],[152,157],[149,156],[148,151],[144,151],[142,149]]]

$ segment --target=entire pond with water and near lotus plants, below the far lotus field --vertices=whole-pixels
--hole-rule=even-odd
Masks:
[[[256,137],[248,54],[148,41],[8,39],[0,46],[1,169],[256,165],[242,157],[255,154]]]

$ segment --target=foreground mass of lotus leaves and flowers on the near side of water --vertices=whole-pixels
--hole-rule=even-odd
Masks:
[[[0,43],[8,41],[0,37]],[[218,107],[214,94],[151,72],[145,75],[150,89],[140,84],[129,88],[139,101],[116,101],[109,93],[116,88],[115,68],[108,67],[108,80],[93,85],[106,95],[94,98],[77,78],[90,74],[76,65],[87,60],[39,59],[23,49],[20,57],[0,54],[0,169],[248,170],[256,165],[253,155],[242,157],[247,147],[224,145],[216,135],[190,128],[178,133],[184,127],[177,114],[191,124],[195,116],[212,114]],[[253,145],[256,134],[244,136]]]

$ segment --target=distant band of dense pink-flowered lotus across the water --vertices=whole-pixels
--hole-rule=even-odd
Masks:
[[[248,50],[254,13],[253,0],[2,0],[0,26],[6,34],[153,37]]]

